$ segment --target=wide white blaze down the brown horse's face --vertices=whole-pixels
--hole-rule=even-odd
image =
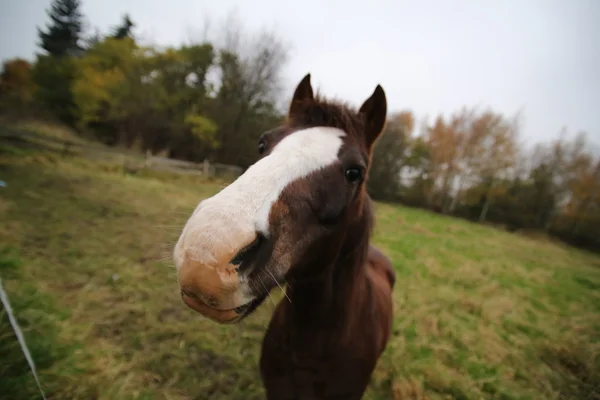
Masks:
[[[249,244],[255,232],[268,236],[271,206],[281,192],[295,180],[335,163],[344,136],[344,131],[327,127],[296,131],[231,185],[200,202],[175,246],[177,268],[186,252],[194,260],[214,265],[217,248],[235,251]]]

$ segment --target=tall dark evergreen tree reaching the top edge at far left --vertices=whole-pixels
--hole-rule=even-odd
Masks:
[[[47,30],[38,28],[40,47],[53,57],[79,54],[80,35],[83,30],[83,16],[80,0],[53,0],[47,11],[51,23]]]

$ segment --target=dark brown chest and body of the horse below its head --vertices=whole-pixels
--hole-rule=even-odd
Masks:
[[[374,247],[359,269],[347,281],[289,283],[262,344],[267,399],[362,398],[391,330],[394,272]]]

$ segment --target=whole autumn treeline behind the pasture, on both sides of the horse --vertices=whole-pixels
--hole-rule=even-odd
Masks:
[[[127,15],[87,35],[80,9],[80,0],[54,0],[35,61],[4,62],[2,114],[58,119],[106,144],[173,158],[255,160],[258,136],[283,118],[289,95],[288,47],[274,33],[228,21],[211,40],[161,48],[136,39]],[[420,124],[410,111],[392,114],[369,191],[600,250],[600,159],[585,135],[525,148],[519,121],[469,108]]]

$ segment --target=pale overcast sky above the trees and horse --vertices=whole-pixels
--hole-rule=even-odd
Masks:
[[[0,59],[33,59],[50,0],[0,4]],[[102,32],[128,12],[135,33],[161,45],[235,12],[291,44],[290,95],[310,72],[355,105],[379,83],[391,111],[522,110],[529,143],[562,127],[600,143],[600,0],[83,0],[83,12]]]

